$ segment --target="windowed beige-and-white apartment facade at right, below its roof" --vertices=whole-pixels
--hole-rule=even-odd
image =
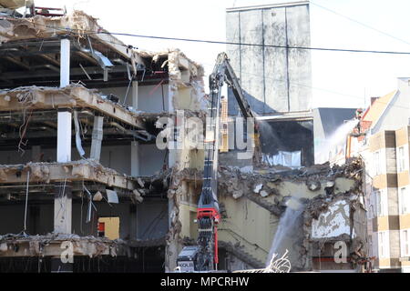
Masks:
[[[372,256],[381,271],[408,272],[409,126],[370,137],[372,193],[368,218]],[[370,237],[369,237],[370,238]]]

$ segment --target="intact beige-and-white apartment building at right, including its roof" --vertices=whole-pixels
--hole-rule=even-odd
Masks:
[[[372,98],[347,140],[347,157],[365,162],[368,244],[380,272],[408,272],[409,79],[397,90]]]

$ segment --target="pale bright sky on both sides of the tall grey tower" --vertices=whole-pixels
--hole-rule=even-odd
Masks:
[[[99,18],[112,32],[225,40],[225,9],[232,6],[290,1],[250,0],[36,0],[36,5],[73,6]],[[317,5],[314,5],[317,4]],[[394,37],[359,25],[348,16]],[[410,52],[410,1],[313,0],[312,46]],[[179,48],[205,66],[207,72],[225,45],[192,44],[119,37],[141,49]],[[407,42],[408,44],[406,44]],[[313,51],[313,107],[363,107],[371,96],[396,88],[396,78],[410,76],[410,55],[375,55]]]

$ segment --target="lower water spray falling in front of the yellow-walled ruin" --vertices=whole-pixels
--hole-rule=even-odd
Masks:
[[[278,228],[273,237],[266,266],[271,264],[274,254],[282,256],[282,253],[294,244],[297,233],[302,231],[297,225],[297,220],[302,215],[303,210],[304,207],[297,198],[292,197],[291,200],[288,201],[286,210],[279,220]]]

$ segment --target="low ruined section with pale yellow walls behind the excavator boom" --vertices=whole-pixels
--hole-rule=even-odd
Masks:
[[[253,173],[221,167],[219,199],[220,268],[262,268],[272,251],[289,251],[292,271],[358,271],[366,268],[366,223],[362,164],[299,170],[258,167]],[[200,196],[197,170],[173,177],[174,199],[169,266],[178,245],[198,237],[194,218]],[[343,256],[337,253],[343,249]],[[341,260],[334,259],[340,256]]]

